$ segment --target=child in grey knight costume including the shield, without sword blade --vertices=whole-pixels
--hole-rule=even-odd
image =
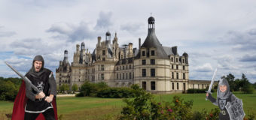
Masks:
[[[242,120],[245,113],[242,109],[242,100],[236,98],[230,92],[230,86],[226,79],[221,79],[218,83],[217,99],[213,98],[211,94],[206,93],[209,101],[221,110],[219,119],[223,120]]]

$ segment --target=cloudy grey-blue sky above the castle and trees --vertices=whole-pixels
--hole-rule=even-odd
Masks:
[[[76,44],[93,52],[97,37],[120,45],[139,46],[148,34],[148,17],[155,18],[163,46],[178,46],[189,56],[189,79],[216,80],[227,74],[256,82],[256,1],[253,0],[1,0],[0,77],[17,77],[10,63],[26,74],[35,55],[55,73],[64,50],[73,61]]]

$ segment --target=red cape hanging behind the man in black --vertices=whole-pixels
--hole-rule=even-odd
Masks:
[[[19,93],[16,96],[15,101],[14,101],[13,114],[11,115],[12,120],[23,120],[24,119],[26,99],[27,99],[26,98],[26,84],[23,81],[23,83],[20,86]],[[58,115],[57,115],[57,107],[56,107],[55,98],[53,98],[52,104],[53,104],[55,119],[57,120]],[[44,120],[44,115],[42,113],[40,113],[40,115],[38,115],[38,118],[36,118],[36,120]]]

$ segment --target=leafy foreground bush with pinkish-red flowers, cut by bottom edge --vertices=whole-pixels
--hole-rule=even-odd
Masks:
[[[121,111],[120,119],[136,120],[213,120],[218,119],[219,109],[215,108],[209,113],[206,110],[192,113],[193,101],[184,101],[179,96],[174,96],[171,102],[157,102],[154,97],[142,89],[135,91],[135,98],[124,99],[126,106]]]

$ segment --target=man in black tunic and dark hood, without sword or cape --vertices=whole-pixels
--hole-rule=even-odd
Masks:
[[[28,100],[26,101],[24,119],[35,120],[40,113],[44,115],[46,120],[56,119],[52,104],[53,98],[56,96],[56,82],[53,72],[44,68],[44,58],[41,55],[35,56],[32,62],[32,68],[26,74],[26,77],[41,92],[36,93],[26,83],[26,98]]]

